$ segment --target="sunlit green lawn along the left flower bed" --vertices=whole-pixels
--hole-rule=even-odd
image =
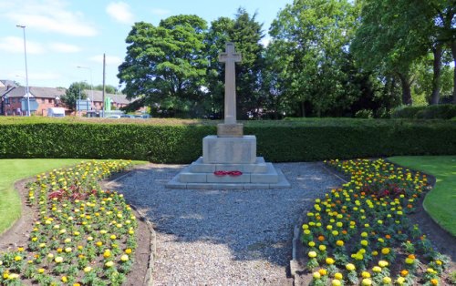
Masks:
[[[48,170],[76,165],[83,160],[80,158],[0,159],[0,234],[11,227],[21,215],[21,200],[14,189],[16,180],[26,179]]]

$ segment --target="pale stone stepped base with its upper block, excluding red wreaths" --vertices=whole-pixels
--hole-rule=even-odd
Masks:
[[[239,176],[215,174],[240,171]],[[202,139],[202,157],[182,169],[166,188],[169,189],[281,189],[290,188],[280,169],[256,157],[256,138],[243,136]]]

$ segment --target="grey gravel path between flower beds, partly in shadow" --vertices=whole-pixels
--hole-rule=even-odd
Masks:
[[[291,285],[294,225],[340,180],[321,163],[282,163],[291,189],[165,189],[182,167],[149,164],[116,184],[157,232],[154,284]]]

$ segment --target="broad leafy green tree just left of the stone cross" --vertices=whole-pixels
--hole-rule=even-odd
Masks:
[[[202,86],[208,64],[203,53],[206,22],[197,15],[175,15],[159,26],[136,23],[119,66],[128,98],[140,98],[158,116],[201,116]]]

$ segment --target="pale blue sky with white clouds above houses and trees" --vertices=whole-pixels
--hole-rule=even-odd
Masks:
[[[125,38],[135,22],[155,26],[171,15],[199,15],[208,22],[234,18],[244,7],[267,31],[277,13],[293,0],[0,0],[0,79],[30,87],[69,87],[87,81],[119,87]],[[17,27],[26,26],[25,28]],[[24,55],[26,33],[26,60]],[[81,66],[78,68],[78,66]]]

